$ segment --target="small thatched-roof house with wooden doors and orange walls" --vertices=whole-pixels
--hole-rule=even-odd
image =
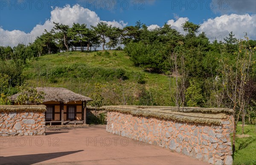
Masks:
[[[91,98],[74,93],[61,87],[37,87],[38,92],[44,92],[43,103],[47,107],[46,122],[52,123],[86,123],[86,103]],[[19,93],[10,96],[15,101]]]

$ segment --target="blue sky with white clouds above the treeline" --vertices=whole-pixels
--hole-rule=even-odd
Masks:
[[[1,45],[12,35],[39,35],[53,21],[88,26],[106,21],[122,28],[140,20],[149,29],[168,23],[183,33],[181,24],[189,20],[209,38],[223,40],[230,31],[241,38],[244,30],[255,40],[255,14],[256,0],[0,0]]]

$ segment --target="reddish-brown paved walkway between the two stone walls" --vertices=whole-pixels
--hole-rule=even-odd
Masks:
[[[0,137],[0,164],[203,165],[179,153],[117,136],[105,125],[48,129],[46,136]]]

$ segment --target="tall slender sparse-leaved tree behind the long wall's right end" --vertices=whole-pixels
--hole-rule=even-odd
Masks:
[[[236,126],[242,114],[242,133],[244,125],[244,116],[247,104],[245,97],[245,86],[252,72],[254,50],[249,46],[249,39],[239,41],[239,50],[234,53],[235,62],[231,62],[221,54],[223,88],[227,95],[229,107],[233,107],[233,153],[236,151]]]

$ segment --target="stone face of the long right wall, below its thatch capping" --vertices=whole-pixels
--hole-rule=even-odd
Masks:
[[[221,119],[221,124],[204,124],[108,111],[107,121],[110,133],[159,145],[211,164],[233,162],[230,141],[233,116],[230,115]]]

